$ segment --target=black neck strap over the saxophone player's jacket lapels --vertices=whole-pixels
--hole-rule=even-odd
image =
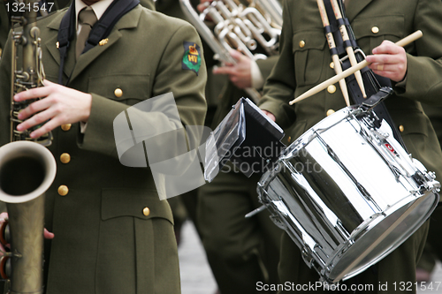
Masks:
[[[94,27],[89,34],[88,41],[83,50],[83,53],[89,49],[94,48],[99,41],[109,36],[113,26],[117,23],[123,15],[128,11],[131,11],[136,5],[140,4],[139,0],[115,0],[109,5],[108,9],[104,11],[103,16],[95,23]],[[61,20],[60,28],[58,30],[58,49],[60,51],[60,68],[58,71],[58,84],[63,85],[63,69],[65,67],[65,58],[67,55],[67,49],[71,44],[76,34],[76,15],[75,15],[75,1],[72,1],[71,6],[66,11],[65,16]],[[69,77],[65,83],[69,83]]]

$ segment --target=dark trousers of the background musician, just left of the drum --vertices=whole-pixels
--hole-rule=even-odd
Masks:
[[[245,218],[260,207],[258,181],[258,175],[248,178],[222,170],[199,190],[202,243],[223,294],[257,293],[257,283],[278,283],[282,230],[267,211]]]

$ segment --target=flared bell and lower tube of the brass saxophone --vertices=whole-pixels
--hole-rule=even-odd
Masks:
[[[0,239],[11,244],[0,273],[11,278],[11,293],[42,293],[44,192],[56,172],[54,156],[40,144],[16,141],[0,147],[0,200],[9,215]]]

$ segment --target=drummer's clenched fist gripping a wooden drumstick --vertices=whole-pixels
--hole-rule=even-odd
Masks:
[[[373,49],[373,54],[366,57],[372,63],[369,68],[376,74],[400,82],[407,74],[407,54],[405,49],[395,45],[392,41],[383,41]]]

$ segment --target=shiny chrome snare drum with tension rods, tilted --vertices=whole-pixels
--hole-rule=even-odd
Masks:
[[[321,280],[361,273],[402,244],[438,204],[434,173],[380,127],[348,107],[286,148],[258,183],[261,202]]]

